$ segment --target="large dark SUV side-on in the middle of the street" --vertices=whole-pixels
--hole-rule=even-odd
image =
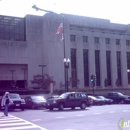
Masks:
[[[75,109],[75,107],[85,109],[87,106],[90,106],[90,102],[87,94],[84,92],[66,92],[57,98],[47,100],[47,109],[50,110],[53,110],[53,108],[59,108],[59,110],[64,108]]]

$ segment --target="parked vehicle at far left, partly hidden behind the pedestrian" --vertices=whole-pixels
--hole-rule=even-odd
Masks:
[[[25,100],[22,99],[19,94],[17,94],[17,93],[9,93],[9,97],[13,101],[13,103],[9,104],[9,108],[8,108],[9,110],[21,109],[22,111],[24,111],[24,109],[25,109]],[[2,101],[2,99],[1,99],[1,101]]]

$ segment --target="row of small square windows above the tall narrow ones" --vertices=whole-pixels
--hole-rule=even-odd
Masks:
[[[70,41],[76,42],[76,35],[70,35]],[[88,42],[88,36],[82,36],[83,42]],[[99,37],[94,37],[94,43],[99,43]],[[110,38],[105,38],[105,43],[110,44]],[[116,45],[120,45],[120,39],[116,39]],[[126,40],[126,45],[130,46],[130,40]]]

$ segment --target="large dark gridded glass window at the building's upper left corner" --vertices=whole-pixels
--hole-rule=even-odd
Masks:
[[[0,39],[25,41],[24,18],[0,15]]]

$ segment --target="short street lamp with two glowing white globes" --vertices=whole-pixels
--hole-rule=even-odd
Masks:
[[[69,69],[69,63],[70,59],[64,58],[64,65],[65,65],[65,88],[66,91],[68,92],[68,69]]]

